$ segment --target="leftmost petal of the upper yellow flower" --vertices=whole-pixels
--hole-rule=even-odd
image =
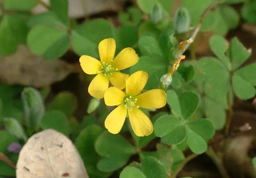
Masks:
[[[100,61],[91,56],[83,55],[80,57],[79,62],[86,74],[98,74],[102,67]]]

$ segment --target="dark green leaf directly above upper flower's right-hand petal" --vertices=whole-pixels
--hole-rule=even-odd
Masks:
[[[123,25],[119,28],[120,48],[132,47],[138,41],[138,30],[133,25]],[[118,46],[119,46],[118,45]]]

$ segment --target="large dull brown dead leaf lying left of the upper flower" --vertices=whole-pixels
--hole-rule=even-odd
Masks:
[[[63,80],[75,66],[61,60],[46,61],[20,45],[16,53],[0,57],[0,80],[7,84],[43,87]]]

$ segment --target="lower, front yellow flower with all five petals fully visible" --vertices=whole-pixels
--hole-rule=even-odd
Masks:
[[[153,132],[153,124],[139,107],[147,109],[162,108],[166,105],[164,90],[154,89],[140,94],[148,81],[148,74],[138,71],[126,81],[126,92],[110,87],[104,94],[107,106],[118,106],[107,116],[105,127],[112,134],[118,134],[128,112],[132,129],[137,136],[148,136]]]

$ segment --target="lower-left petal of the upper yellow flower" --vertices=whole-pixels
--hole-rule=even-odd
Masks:
[[[102,73],[96,75],[89,85],[88,92],[94,98],[103,98],[105,91],[108,89],[108,77]]]

